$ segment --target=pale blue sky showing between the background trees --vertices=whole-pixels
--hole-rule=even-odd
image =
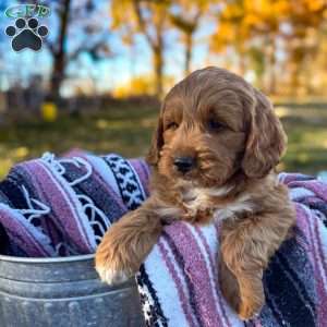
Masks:
[[[81,5],[83,1],[85,0],[73,0],[73,7]],[[12,50],[11,38],[4,34],[4,29],[8,25],[14,24],[15,20],[8,19],[4,11],[8,7],[14,4],[16,4],[16,1],[0,1],[0,89],[7,89],[10,83],[15,80],[24,83],[31,74],[49,76],[51,72],[51,56],[45,46],[37,52],[29,49],[24,49],[21,52]],[[56,5],[56,1],[52,1],[51,15],[39,20],[40,24],[49,27],[47,37],[50,40],[57,37]],[[122,44],[118,33],[112,33],[109,29],[108,1],[97,1],[97,13],[88,19],[101,22],[102,32],[108,34],[113,56],[97,62],[94,62],[88,55],[80,56],[78,60],[71,63],[66,70],[69,77],[62,88],[63,95],[70,95],[76,84],[85,88],[95,85],[96,92],[108,92],[126,84],[132,76],[152,73],[152,52],[144,36],[137,35],[134,47],[129,48]],[[85,41],[84,39],[81,40],[83,37],[80,32],[81,28],[78,22],[72,23],[70,26],[68,46],[71,49],[74,48],[75,44]],[[208,46],[204,39],[213,32],[213,28],[214,26],[210,23],[206,23],[196,33],[192,69],[208,63]],[[183,47],[174,41],[178,37],[174,32],[166,36],[167,50],[165,52],[165,74],[173,76],[175,80],[181,78],[183,75]],[[219,61],[219,58],[215,58],[215,60]]]

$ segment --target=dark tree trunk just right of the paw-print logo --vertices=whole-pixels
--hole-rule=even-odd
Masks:
[[[59,90],[63,81],[64,69],[66,63],[65,47],[70,9],[71,0],[63,0],[62,10],[60,12],[60,31],[58,48],[55,48],[52,51],[53,65],[50,82],[50,97],[55,101],[57,101],[60,96]]]

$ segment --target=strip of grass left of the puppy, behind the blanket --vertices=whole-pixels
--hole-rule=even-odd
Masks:
[[[63,154],[83,148],[96,154],[116,152],[126,157],[146,154],[157,108],[142,110],[129,106],[96,114],[62,116],[56,122],[40,120],[9,124],[0,130],[0,177],[17,161],[39,157],[45,152]]]

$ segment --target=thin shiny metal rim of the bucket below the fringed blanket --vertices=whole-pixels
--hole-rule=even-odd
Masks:
[[[93,261],[95,254],[81,254],[61,257],[22,257],[11,255],[0,255],[0,262],[22,263],[22,264],[57,264]]]

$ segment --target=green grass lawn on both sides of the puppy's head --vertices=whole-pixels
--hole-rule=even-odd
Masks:
[[[301,111],[302,110],[302,111]],[[289,136],[289,149],[280,169],[315,173],[327,170],[327,108],[278,108]],[[92,116],[60,117],[53,123],[31,121],[0,130],[0,177],[17,161],[50,150],[62,154],[73,147],[126,157],[144,156],[156,124],[158,108],[119,106]]]

